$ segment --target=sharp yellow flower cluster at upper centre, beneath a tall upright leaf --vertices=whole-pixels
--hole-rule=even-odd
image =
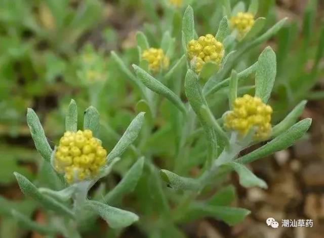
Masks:
[[[187,47],[188,57],[196,73],[201,71],[204,63],[214,61],[220,63],[224,56],[223,44],[211,34],[191,40]]]

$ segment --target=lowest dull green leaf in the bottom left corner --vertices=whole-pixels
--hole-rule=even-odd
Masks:
[[[19,223],[28,230],[36,231],[41,234],[55,234],[58,230],[51,226],[51,224],[41,225],[29,219],[29,217],[12,210],[12,216],[19,221]]]

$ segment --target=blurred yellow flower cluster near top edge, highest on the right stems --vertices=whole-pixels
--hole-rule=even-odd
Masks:
[[[254,16],[249,12],[239,12],[230,19],[231,27],[236,29],[238,37],[244,37],[254,24]]]

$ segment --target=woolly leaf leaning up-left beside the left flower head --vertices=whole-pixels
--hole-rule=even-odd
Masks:
[[[41,122],[39,122],[36,113],[31,108],[27,109],[27,124],[29,126],[36,150],[46,161],[49,162],[51,160],[52,149],[47,142]]]

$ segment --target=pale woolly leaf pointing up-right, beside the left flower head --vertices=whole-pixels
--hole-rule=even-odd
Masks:
[[[108,154],[106,163],[109,163],[113,158],[116,158],[123,154],[124,151],[135,141],[142,128],[144,122],[144,114],[144,112],[141,112],[133,119],[123,136]]]

